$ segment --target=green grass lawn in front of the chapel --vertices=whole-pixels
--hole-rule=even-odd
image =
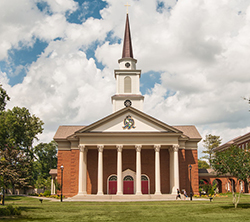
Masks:
[[[6,205],[22,209],[18,217],[3,221],[250,221],[250,196],[241,198],[238,208],[232,197],[209,201],[161,202],[53,202],[29,197],[7,197]],[[2,206],[0,206],[2,207]]]

